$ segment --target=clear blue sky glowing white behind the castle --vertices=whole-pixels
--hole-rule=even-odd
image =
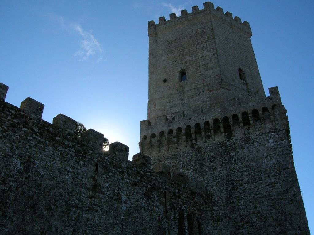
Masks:
[[[0,2],[0,82],[6,101],[45,104],[43,119],[63,113],[138,150],[147,118],[147,22],[205,1]],[[212,1],[250,23],[266,95],[279,87],[288,110],[295,168],[314,232],[313,1]]]

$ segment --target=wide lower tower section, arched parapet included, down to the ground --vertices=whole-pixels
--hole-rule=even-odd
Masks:
[[[141,122],[140,149],[153,164],[197,178],[213,195],[214,234],[310,234],[287,111],[278,88],[269,93],[226,112],[177,112],[155,125]]]

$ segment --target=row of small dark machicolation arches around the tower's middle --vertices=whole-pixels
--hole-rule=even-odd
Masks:
[[[214,118],[212,124],[209,120],[203,124],[197,122],[186,125],[184,131],[182,127],[159,132],[158,138],[155,133],[144,135],[141,149],[143,153],[151,154],[161,151],[169,151],[182,147],[193,147],[195,144],[202,145],[210,141],[223,141],[224,139],[237,138],[245,135],[246,132],[257,131],[260,128],[276,128],[282,125],[280,120],[280,107],[272,106],[272,113],[268,107],[254,108],[251,112],[241,112],[241,119],[237,113],[224,116],[221,120]],[[231,121],[230,121],[231,120]],[[208,142],[209,141],[209,142]]]

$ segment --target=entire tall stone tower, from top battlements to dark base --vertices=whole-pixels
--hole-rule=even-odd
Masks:
[[[148,34],[141,152],[204,182],[213,234],[309,234],[287,111],[277,87],[265,96],[250,25],[207,2]]]

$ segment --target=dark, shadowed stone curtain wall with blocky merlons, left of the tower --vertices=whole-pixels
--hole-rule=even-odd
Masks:
[[[1,234],[208,234],[211,195],[203,183],[153,166],[128,147],[102,149],[103,134],[81,138],[75,121],[41,119],[31,98],[15,107],[0,84]]]

